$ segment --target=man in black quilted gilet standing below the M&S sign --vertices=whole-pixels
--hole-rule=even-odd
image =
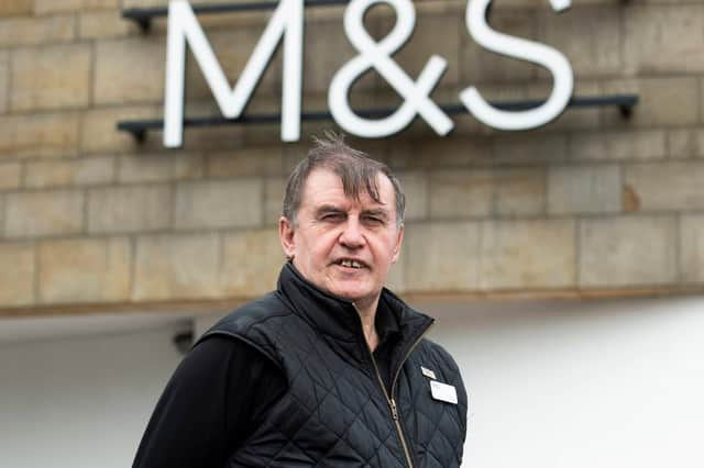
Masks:
[[[458,467],[466,393],[433,320],[384,288],[404,235],[389,169],[334,134],[288,179],[276,291],[199,339],[135,467]]]

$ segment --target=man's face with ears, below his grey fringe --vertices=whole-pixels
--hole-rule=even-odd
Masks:
[[[380,203],[366,192],[356,201],[344,194],[338,175],[315,169],[304,186],[297,225],[279,220],[282,245],[298,271],[360,309],[376,304],[403,238],[392,182],[378,174],[377,185]]]

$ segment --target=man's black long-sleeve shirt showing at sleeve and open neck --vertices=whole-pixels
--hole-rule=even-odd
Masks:
[[[387,391],[398,322],[380,302],[374,350]],[[164,389],[134,468],[222,468],[286,391],[286,377],[243,341],[211,336],[180,363]]]

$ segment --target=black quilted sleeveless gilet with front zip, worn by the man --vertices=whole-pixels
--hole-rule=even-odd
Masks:
[[[400,317],[392,359],[394,403],[375,371],[350,301],[306,281],[287,264],[278,289],[221,320],[200,339],[229,335],[260,349],[286,375],[288,391],[228,467],[459,467],[466,430],[466,393],[459,369],[439,345],[422,338],[432,319],[388,290],[382,300]],[[457,388],[458,404],[433,400],[438,381]]]

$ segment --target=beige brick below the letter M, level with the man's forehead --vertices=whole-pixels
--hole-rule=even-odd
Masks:
[[[187,182],[176,188],[177,229],[248,227],[262,223],[263,183],[257,179]]]

